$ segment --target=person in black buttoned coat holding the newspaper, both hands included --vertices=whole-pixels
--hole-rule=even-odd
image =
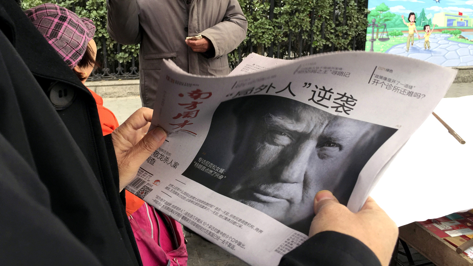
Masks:
[[[0,265],[141,265],[123,188],[166,137],[144,134],[152,111],[103,136],[94,98],[14,0],[0,1],[0,73]],[[323,191],[315,213],[281,266],[387,266],[397,231],[374,201],[353,214]]]

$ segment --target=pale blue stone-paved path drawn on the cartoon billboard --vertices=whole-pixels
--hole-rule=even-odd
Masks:
[[[416,37],[414,45],[409,47],[408,52],[406,43],[400,43],[392,46],[386,53],[412,57],[444,67],[473,66],[473,42],[472,44],[453,42],[447,40],[448,37],[450,34],[430,35],[430,50],[424,50],[424,39],[418,40]]]

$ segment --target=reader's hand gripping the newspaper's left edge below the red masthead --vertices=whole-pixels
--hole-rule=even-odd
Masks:
[[[166,132],[156,128],[148,132],[153,110],[142,107],[112,132],[118,164],[120,191],[136,176],[140,165],[166,139]]]

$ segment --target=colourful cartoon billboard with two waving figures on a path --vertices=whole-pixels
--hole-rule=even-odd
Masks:
[[[369,0],[366,51],[473,66],[473,0]]]

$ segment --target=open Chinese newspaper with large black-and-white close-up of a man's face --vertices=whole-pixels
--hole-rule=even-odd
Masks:
[[[168,137],[126,187],[250,265],[307,240],[315,193],[359,211],[456,74],[368,52],[248,56],[227,77],[161,69],[152,128]]]

